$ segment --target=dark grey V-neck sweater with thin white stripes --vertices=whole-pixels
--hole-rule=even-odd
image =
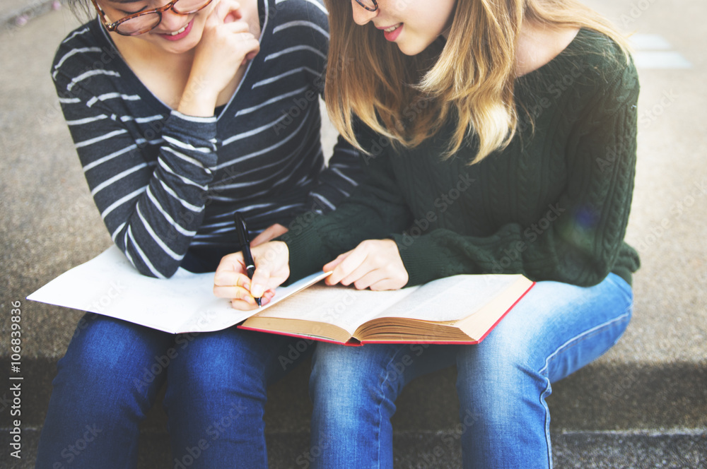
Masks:
[[[233,213],[259,232],[332,210],[361,177],[339,139],[325,166],[319,96],[327,13],[317,0],[259,0],[260,52],[214,117],[158,100],[98,19],[60,44],[52,78],[91,195],[144,275],[213,271],[238,251]]]

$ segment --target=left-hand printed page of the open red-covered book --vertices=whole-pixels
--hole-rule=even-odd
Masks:
[[[263,309],[256,316],[324,322],[353,334],[358,326],[402,301],[418,288],[372,292],[341,285],[330,287],[317,284],[284,299],[275,307]]]

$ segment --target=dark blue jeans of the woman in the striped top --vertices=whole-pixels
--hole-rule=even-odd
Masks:
[[[136,467],[139,423],[166,384],[173,467],[266,468],[266,388],[308,355],[296,345],[237,328],[175,336],[87,314],[59,360],[36,467]]]

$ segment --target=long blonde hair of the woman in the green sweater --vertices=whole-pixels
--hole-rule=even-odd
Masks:
[[[524,21],[549,27],[588,28],[628,46],[602,16],[575,0],[457,0],[446,44],[409,57],[372,25],[351,18],[351,1],[325,0],[329,10],[329,62],[325,96],[334,126],[363,150],[354,116],[412,148],[433,136],[449,117],[456,128],[445,157],[474,135],[481,161],[515,136],[515,44]]]

